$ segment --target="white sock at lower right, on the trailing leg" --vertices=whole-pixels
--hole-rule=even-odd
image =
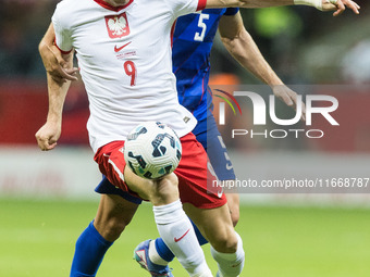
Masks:
[[[220,277],[237,277],[243,270],[245,253],[243,250],[243,241],[240,236],[237,237],[237,250],[235,253],[220,253],[211,247],[211,253],[218,263]]]

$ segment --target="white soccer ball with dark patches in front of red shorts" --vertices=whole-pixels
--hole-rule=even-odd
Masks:
[[[177,167],[182,147],[176,133],[169,126],[145,122],[128,134],[123,154],[136,175],[157,179]]]

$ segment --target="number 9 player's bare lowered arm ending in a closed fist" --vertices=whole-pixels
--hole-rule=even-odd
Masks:
[[[69,54],[63,54],[62,58],[66,61],[66,65],[72,67],[73,51]],[[62,83],[55,80],[49,72],[47,72],[47,77],[49,111],[46,124],[36,133],[38,147],[44,151],[51,150],[57,146],[62,130],[62,111],[65,96],[71,85],[71,80]]]

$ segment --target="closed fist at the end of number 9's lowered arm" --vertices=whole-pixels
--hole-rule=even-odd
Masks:
[[[61,125],[46,123],[35,135],[37,144],[42,151],[54,149],[61,135]]]

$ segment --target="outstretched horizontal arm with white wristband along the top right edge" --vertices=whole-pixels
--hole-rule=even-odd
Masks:
[[[201,1],[201,0],[200,0]],[[351,0],[205,0],[206,8],[268,8],[279,5],[303,4],[319,9],[320,11],[335,11],[334,16],[340,15],[346,8],[358,14],[360,7]]]

